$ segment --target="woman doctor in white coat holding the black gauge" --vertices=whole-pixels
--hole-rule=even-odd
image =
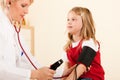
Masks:
[[[55,73],[49,67],[40,66],[21,36],[20,42],[37,69],[31,65],[19,45],[19,29],[14,27],[14,23],[20,25],[32,2],[33,0],[0,0],[0,80],[48,80]]]

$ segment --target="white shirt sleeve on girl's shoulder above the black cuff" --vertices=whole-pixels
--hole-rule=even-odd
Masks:
[[[82,47],[88,46],[94,49],[95,51],[98,51],[99,49],[99,42],[95,42],[94,39],[90,38],[89,40],[83,40]]]

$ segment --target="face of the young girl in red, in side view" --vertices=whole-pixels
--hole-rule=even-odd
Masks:
[[[82,18],[75,12],[71,11],[68,13],[67,17],[67,30],[73,35],[79,35],[82,28]]]

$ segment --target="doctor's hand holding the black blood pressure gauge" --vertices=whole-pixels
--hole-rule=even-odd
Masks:
[[[38,70],[31,71],[31,79],[52,80],[54,74],[55,74],[55,71],[49,69],[49,67],[42,67]]]

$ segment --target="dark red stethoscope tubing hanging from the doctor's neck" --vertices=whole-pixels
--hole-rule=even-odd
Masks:
[[[21,26],[19,26],[18,30],[17,30],[17,27],[14,25],[14,28],[15,28],[15,31],[17,33],[17,38],[18,38],[18,43],[20,45],[20,48],[22,49],[23,51],[23,54],[25,54],[25,56],[27,57],[27,59],[29,60],[29,62],[31,63],[31,65],[37,70],[38,68],[34,65],[34,63],[31,61],[31,59],[29,58],[29,56],[27,55],[25,49],[23,48],[22,44],[21,44],[21,41],[20,41],[20,30],[21,30]],[[61,77],[53,77],[53,79],[60,79],[60,78],[64,78],[64,77],[67,77],[69,74],[66,74],[66,75],[63,75]]]

